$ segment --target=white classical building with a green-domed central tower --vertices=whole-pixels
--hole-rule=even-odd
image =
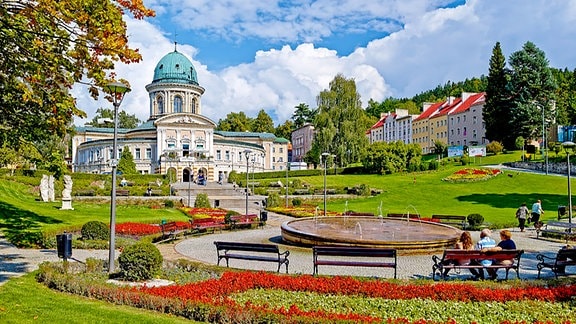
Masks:
[[[146,86],[150,97],[148,121],[134,129],[118,129],[118,156],[127,147],[142,174],[173,172],[178,181],[204,177],[226,180],[235,170],[285,170],[289,142],[270,133],[216,131],[216,123],[202,115],[205,89],[196,69],[182,53],[165,55]],[[114,130],[77,127],[72,138],[74,172],[112,170]],[[170,171],[171,170],[171,171]]]

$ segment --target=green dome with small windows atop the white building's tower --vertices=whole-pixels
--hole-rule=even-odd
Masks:
[[[196,70],[186,56],[174,51],[156,64],[152,83],[185,83],[198,85]]]

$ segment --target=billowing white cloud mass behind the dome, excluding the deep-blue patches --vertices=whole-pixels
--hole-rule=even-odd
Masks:
[[[374,39],[345,57],[334,50],[315,47],[313,43],[300,43],[295,47],[260,50],[252,62],[210,71],[194,59],[197,49],[193,46],[179,44],[178,50],[192,59],[200,85],[206,89],[202,112],[216,122],[231,111],[244,111],[255,117],[260,109],[265,109],[276,124],[283,123],[301,102],[315,108],[316,96],[328,88],[338,73],[356,80],[364,105],[370,98],[380,101],[387,96],[411,97],[448,80],[460,81],[487,74],[497,41],[501,42],[506,57],[520,50],[526,41],[532,41],[546,53],[551,66],[574,69],[574,2],[471,0],[457,8],[433,9],[444,2],[449,1],[432,5],[425,1],[398,1],[394,6],[388,2],[385,5],[368,0],[354,2],[356,10],[363,15],[371,12],[372,16],[366,16],[369,21],[387,24],[384,18],[392,18],[400,25],[393,22],[397,30],[390,36]],[[173,13],[175,7],[167,3],[172,2],[157,0],[154,6]],[[350,10],[352,6],[349,1],[329,6],[333,1],[328,0],[308,5],[305,2],[296,9],[278,8],[276,3],[268,1],[223,3],[183,1],[182,17],[189,18],[188,28],[210,29],[213,33],[232,31],[247,38],[280,35],[286,39],[318,39],[333,32],[332,22],[344,17],[339,11]],[[194,15],[184,14],[186,10],[193,10]],[[269,19],[259,23],[257,10],[266,12]],[[275,21],[276,15],[287,18]],[[150,22],[127,21],[130,44],[140,48],[144,60],[117,68],[118,76],[128,79],[133,89],[122,109],[146,120],[149,101],[144,86],[152,81],[156,63],[172,51],[174,45]],[[357,28],[359,23],[353,22],[353,28]],[[281,29],[284,31],[274,32]],[[74,93],[80,108],[86,110],[90,118],[98,107],[110,106],[87,99],[82,87]]]

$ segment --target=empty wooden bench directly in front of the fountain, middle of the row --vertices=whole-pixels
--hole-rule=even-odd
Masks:
[[[383,248],[368,248],[357,246],[314,246],[314,275],[318,274],[319,265],[331,266],[354,266],[354,267],[381,267],[393,268],[396,279],[396,250]],[[333,257],[329,259],[319,258],[323,256]],[[364,258],[350,260],[350,258]],[[378,261],[369,258],[380,258]],[[385,261],[384,259],[391,259]]]

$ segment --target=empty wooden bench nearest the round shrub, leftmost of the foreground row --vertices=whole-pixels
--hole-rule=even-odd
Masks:
[[[288,273],[290,251],[280,252],[278,245],[221,241],[215,241],[214,245],[216,245],[216,253],[218,254],[218,265],[222,259],[226,260],[226,267],[229,266],[230,259],[276,262],[278,263],[277,272],[280,272],[280,267],[284,264],[286,265],[286,273]],[[234,252],[249,252],[250,254]]]

